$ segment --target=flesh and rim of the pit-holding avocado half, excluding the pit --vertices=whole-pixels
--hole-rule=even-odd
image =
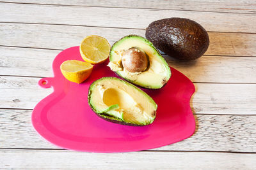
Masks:
[[[122,66],[122,54],[132,47],[142,49],[148,56],[149,64],[145,71],[131,73]],[[108,66],[118,76],[147,89],[160,89],[171,77],[170,67],[154,45],[147,39],[136,35],[125,36],[116,41],[109,53]]]

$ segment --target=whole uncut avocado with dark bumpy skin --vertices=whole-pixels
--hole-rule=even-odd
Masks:
[[[159,50],[180,60],[195,60],[209,46],[204,27],[186,18],[165,18],[148,25],[146,38]]]

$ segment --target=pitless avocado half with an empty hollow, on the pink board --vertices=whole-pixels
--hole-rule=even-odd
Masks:
[[[115,77],[90,85],[88,103],[98,116],[127,125],[148,125],[156,118],[157,104],[138,87]]]

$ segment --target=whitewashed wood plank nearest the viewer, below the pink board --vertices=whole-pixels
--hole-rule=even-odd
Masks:
[[[255,169],[256,154],[0,150],[1,169]]]

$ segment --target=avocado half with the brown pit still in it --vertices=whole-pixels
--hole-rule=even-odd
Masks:
[[[136,35],[113,44],[108,66],[118,76],[147,89],[161,89],[171,76],[170,67],[153,44]]]

